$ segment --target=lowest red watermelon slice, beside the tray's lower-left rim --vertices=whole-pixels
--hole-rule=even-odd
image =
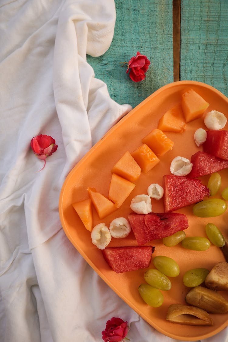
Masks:
[[[154,250],[153,246],[106,247],[102,254],[112,271],[122,273],[149,267]]]

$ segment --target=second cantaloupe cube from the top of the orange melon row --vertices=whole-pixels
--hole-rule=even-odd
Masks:
[[[186,122],[182,106],[178,103],[170,108],[158,121],[158,129],[162,132],[182,133],[186,129]]]

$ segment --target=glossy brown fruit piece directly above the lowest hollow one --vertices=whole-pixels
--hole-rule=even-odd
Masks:
[[[191,289],[187,293],[185,301],[210,313],[224,314],[228,312],[228,302],[225,298],[220,293],[202,286]]]

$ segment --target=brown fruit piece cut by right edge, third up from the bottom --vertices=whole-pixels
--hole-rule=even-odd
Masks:
[[[228,290],[228,263],[218,262],[205,279],[205,285],[209,289],[216,291]]]

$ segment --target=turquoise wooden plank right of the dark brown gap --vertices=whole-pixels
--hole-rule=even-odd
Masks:
[[[228,96],[228,1],[182,0],[180,39],[180,80]]]

